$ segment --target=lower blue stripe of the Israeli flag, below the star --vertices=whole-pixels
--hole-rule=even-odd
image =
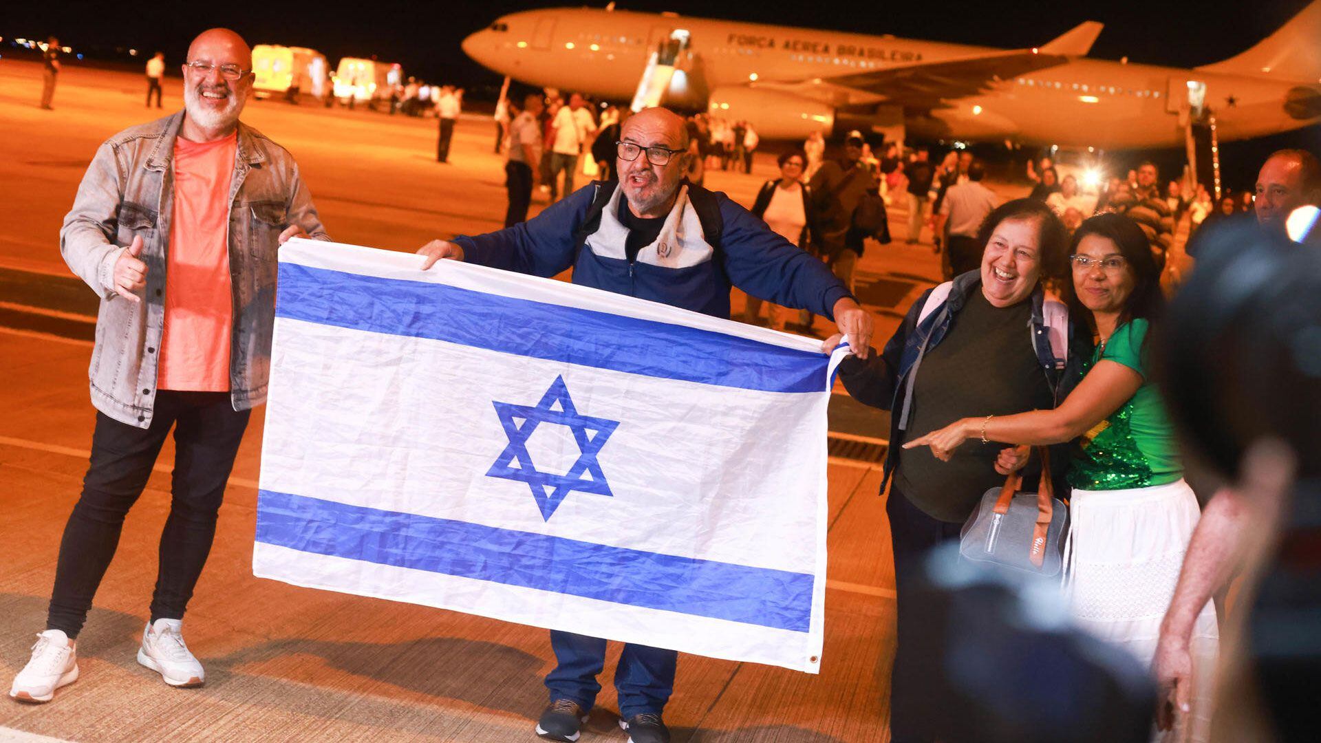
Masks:
[[[260,490],[256,541],[477,580],[793,632],[811,623],[812,575],[612,547]]]

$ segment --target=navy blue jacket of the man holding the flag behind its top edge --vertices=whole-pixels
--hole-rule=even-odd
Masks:
[[[468,263],[547,278],[572,266],[575,284],[716,317],[729,317],[732,286],[764,300],[831,319],[835,303],[852,296],[824,263],[771,231],[720,192],[708,192],[716,198],[724,221],[709,260],[672,268],[597,255],[575,237],[588,217],[596,188],[596,184],[584,186],[527,222],[483,235],[460,235],[453,242],[464,249]],[[690,192],[699,188],[688,184]],[[622,245],[618,251],[624,253]]]

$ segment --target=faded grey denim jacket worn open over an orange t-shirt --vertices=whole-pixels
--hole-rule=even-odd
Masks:
[[[165,255],[174,202],[174,139],[184,112],[124,130],[96,149],[74,206],[59,230],[59,251],[100,295],[89,377],[91,402],[115,420],[145,428],[156,399],[156,366],[165,328]],[[234,410],[266,402],[275,320],[277,238],[299,225],[325,234],[293,156],[239,123],[230,181],[229,258],[234,324],[230,398]],[[114,290],[115,262],[143,238],[143,301]]]

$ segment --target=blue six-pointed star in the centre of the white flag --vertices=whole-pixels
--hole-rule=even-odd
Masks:
[[[613,494],[596,455],[620,422],[579,415],[563,375],[555,378],[542,402],[535,406],[498,401],[493,401],[493,405],[505,435],[509,436],[509,446],[495,459],[486,476],[527,483],[538,508],[542,509],[542,518],[550,521],[569,490],[598,496]],[[564,475],[538,471],[532,455],[527,451],[527,439],[543,423],[568,426],[573,431],[573,440],[581,453]]]

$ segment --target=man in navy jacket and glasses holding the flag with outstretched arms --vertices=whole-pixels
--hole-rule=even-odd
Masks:
[[[649,108],[627,120],[617,144],[620,182],[592,184],[538,217],[477,237],[432,241],[423,268],[456,259],[729,317],[729,288],[834,317],[859,354],[872,317],[807,253],[731,201],[687,182],[688,134],[680,116]],[[559,665],[546,677],[551,703],[536,732],[577,740],[601,686],[605,640],[551,631]],[[621,726],[633,743],[666,743],[660,714],[674,690],[678,652],[626,644],[616,672]]]

